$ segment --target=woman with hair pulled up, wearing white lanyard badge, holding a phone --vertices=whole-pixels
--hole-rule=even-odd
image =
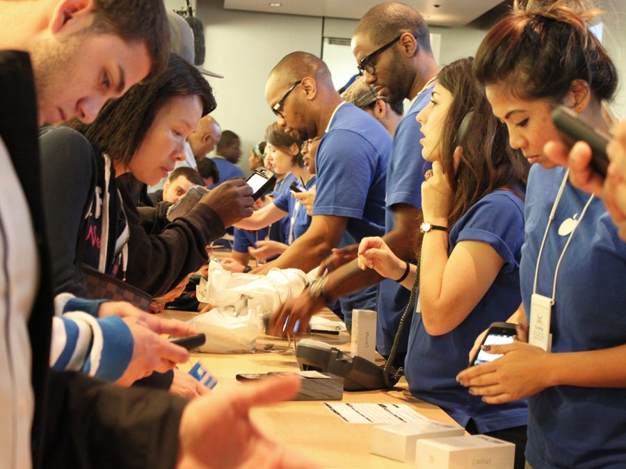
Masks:
[[[511,146],[533,164],[520,280],[524,337],[490,347],[499,359],[458,380],[501,404],[528,397],[532,468],[626,467],[626,245],[602,201],[545,154],[559,140],[552,109],[567,106],[607,130],[601,102],[615,65],[588,29],[581,1],[516,7],[483,40],[476,75]],[[525,335],[525,334],[524,334]]]

